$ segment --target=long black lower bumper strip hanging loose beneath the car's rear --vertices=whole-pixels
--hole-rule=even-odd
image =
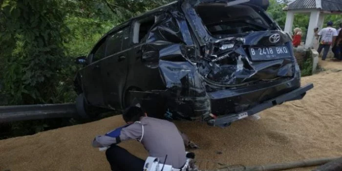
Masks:
[[[302,99],[306,91],[312,89],[314,87],[313,84],[307,84],[302,87],[296,88],[288,93],[282,94],[278,97],[272,98],[270,100],[267,100],[259,105],[256,105],[255,107],[252,107],[248,110],[244,110],[238,113],[228,113],[226,115],[218,116],[217,118],[208,120],[207,123],[210,126],[221,126],[224,124],[228,124],[243,118],[246,118],[248,116],[254,115],[262,110],[265,110],[270,107],[274,107],[276,105],[280,105],[283,102],[293,101],[293,100],[299,100]]]

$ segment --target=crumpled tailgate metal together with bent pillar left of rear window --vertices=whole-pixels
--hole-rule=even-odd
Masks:
[[[203,0],[202,2],[213,2],[214,0]],[[225,0],[218,0],[225,1]],[[192,2],[193,4],[199,4]],[[254,2],[256,3],[256,2]],[[245,85],[251,81],[276,79],[279,76],[293,76],[294,65],[288,61],[293,59],[279,59],[276,62],[251,61],[245,49],[249,46],[277,46],[286,45],[292,50],[290,38],[286,33],[278,30],[250,32],[239,37],[230,35],[210,36],[206,27],[198,17],[195,9],[190,3],[183,4],[183,10],[187,11],[188,21],[191,21],[192,29],[197,30],[200,44],[203,44],[203,59],[198,64],[201,75],[208,79],[213,85],[238,86]],[[272,34],[280,34],[280,41],[271,44],[268,39]],[[222,45],[233,45],[226,50],[220,50]],[[293,55],[293,54],[292,54]],[[259,64],[258,64],[259,63]],[[287,70],[291,68],[290,70]],[[278,75],[279,72],[279,75]]]

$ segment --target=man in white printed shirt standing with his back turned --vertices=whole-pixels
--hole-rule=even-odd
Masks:
[[[315,29],[315,35],[316,36],[321,36],[321,42],[320,45],[317,49],[318,53],[321,54],[322,49],[324,49],[323,56],[322,56],[322,61],[325,60],[330,46],[335,44],[336,37],[337,37],[337,30],[332,27],[333,22],[329,21],[327,23],[327,27],[322,28],[320,32],[317,33]]]

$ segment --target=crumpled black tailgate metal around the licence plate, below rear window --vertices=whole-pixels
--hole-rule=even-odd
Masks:
[[[251,81],[276,79],[281,76],[293,76],[294,61],[292,58],[274,59],[273,61],[251,61],[244,50],[246,45],[268,45],[264,38],[272,32],[251,33],[240,38],[229,38],[227,41],[212,40],[207,43],[206,54],[198,67],[204,78],[216,85],[237,86]],[[289,39],[284,33],[279,45],[288,44]],[[224,39],[224,38],[223,38]],[[221,39],[221,40],[223,40]],[[243,40],[243,42],[241,42]],[[218,42],[218,43],[215,43]],[[224,44],[234,44],[233,48],[217,50]],[[274,44],[273,44],[274,45]],[[277,45],[277,44],[276,44]],[[216,50],[215,50],[216,49]]]

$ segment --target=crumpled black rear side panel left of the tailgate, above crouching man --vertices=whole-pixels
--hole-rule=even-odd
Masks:
[[[166,90],[135,92],[149,115],[160,117],[157,113],[165,113],[169,119],[209,115],[205,82],[189,60],[195,53],[183,14],[170,10],[157,18],[142,47],[142,60],[147,67],[159,68]],[[165,105],[155,106],[160,103]]]

